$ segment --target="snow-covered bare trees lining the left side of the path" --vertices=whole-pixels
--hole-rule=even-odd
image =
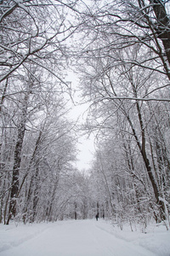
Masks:
[[[66,38],[74,26],[56,1],[0,3],[0,222],[52,219],[60,177],[73,172],[67,120]],[[68,99],[68,96],[66,97]],[[57,195],[57,193],[59,195]],[[59,199],[62,204],[61,198]],[[59,212],[56,213],[59,215]]]

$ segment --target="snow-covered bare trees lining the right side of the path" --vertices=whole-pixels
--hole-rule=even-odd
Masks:
[[[155,218],[168,227],[169,3],[94,1],[83,29],[79,70],[91,102],[86,128],[97,131],[100,205],[116,223]]]

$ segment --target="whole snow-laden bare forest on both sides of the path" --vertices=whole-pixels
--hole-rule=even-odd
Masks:
[[[0,223],[99,212],[169,228],[169,15],[169,0],[0,1]],[[88,172],[80,131],[95,136]]]

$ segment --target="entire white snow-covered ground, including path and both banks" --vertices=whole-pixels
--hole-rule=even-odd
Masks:
[[[170,256],[170,231],[119,230],[101,219],[0,225],[0,256]]]

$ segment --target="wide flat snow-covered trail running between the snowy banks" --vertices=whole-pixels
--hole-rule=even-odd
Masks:
[[[144,247],[116,238],[104,222],[63,221],[0,256],[156,256]]]

